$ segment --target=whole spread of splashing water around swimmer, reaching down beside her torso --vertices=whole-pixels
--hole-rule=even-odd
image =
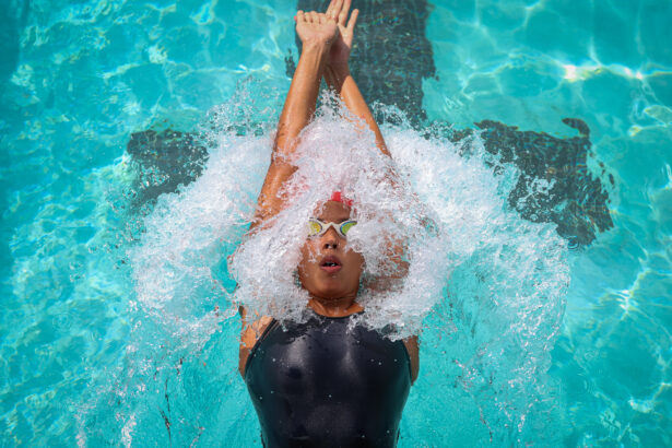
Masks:
[[[384,108],[397,116],[388,120],[397,125],[382,129],[390,160],[375,149],[373,133],[327,96],[302,134],[298,169],[286,186],[293,200],[246,237],[273,137],[254,119],[255,107],[239,106],[247,97],[243,91],[211,115],[216,126],[202,134],[210,153],[202,175],[161,196],[139,244],[128,249],[134,323],[125,368],[106,389],[120,404],[113,406],[115,420],[102,418],[107,423],[101,431],[116,427],[117,436],[104,439],[131,443],[152,431],[173,443],[215,439],[236,425],[231,412],[248,422],[239,440],[255,437],[254,412],[236,378],[237,305],[280,319],[304,317],[307,295],[294,270],[305,223],[337,189],[355,202],[358,224],[347,244],[365,258],[358,298],[367,309],[364,323],[393,323],[394,338],[420,332],[425,350],[440,347],[444,356],[424,367],[426,378],[459,366],[458,378],[444,378],[431,391],[423,390],[421,376],[414,393],[426,393],[432,403],[455,394],[457,384],[492,439],[514,443],[540,434],[530,421],[550,406],[545,372],[564,313],[566,245],[551,225],[524,221],[508,208],[518,172],[500,164],[500,174],[493,175],[497,160],[478,137],[459,143],[426,139],[396,109]],[[382,291],[369,287],[393,268],[385,249],[391,236],[403,240],[409,272]],[[438,340],[438,333],[448,337]],[[215,349],[222,344],[229,346],[226,356]],[[201,364],[212,363],[216,374],[203,376],[209,367]],[[226,384],[227,394],[194,397],[186,378],[196,377],[201,390]],[[105,393],[91,415],[109,410]],[[229,416],[213,417],[222,413]],[[422,439],[426,425],[414,425],[417,438],[409,437]]]

